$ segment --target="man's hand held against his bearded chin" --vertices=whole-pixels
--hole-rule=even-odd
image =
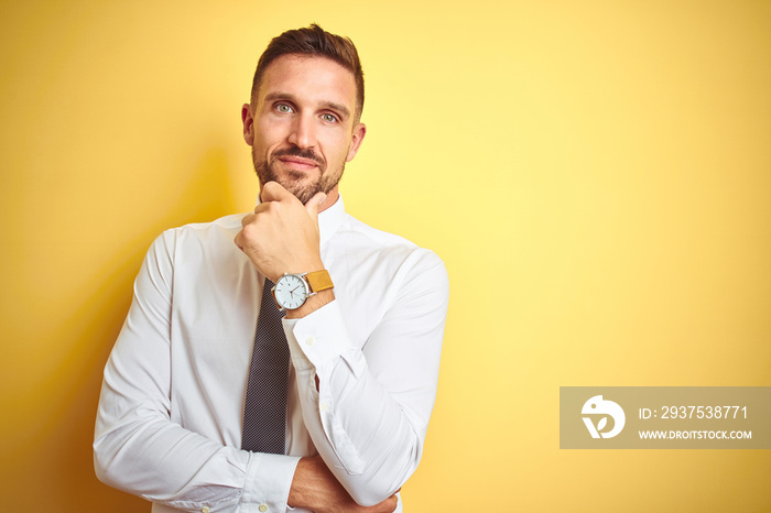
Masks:
[[[241,220],[236,245],[273,283],[284,273],[321,271],[318,206],[325,198],[318,193],[303,205],[279,183],[268,182],[260,205]]]

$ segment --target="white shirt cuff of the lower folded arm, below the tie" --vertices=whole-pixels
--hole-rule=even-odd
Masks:
[[[300,457],[251,452],[239,511],[283,513]]]

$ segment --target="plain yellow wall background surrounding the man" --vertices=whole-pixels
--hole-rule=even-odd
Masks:
[[[561,385],[771,385],[771,2],[0,3],[6,511],[100,484],[101,370],[150,241],[249,210],[259,54],[363,59],[351,214],[452,297],[410,512],[768,511],[762,450],[558,449]]]

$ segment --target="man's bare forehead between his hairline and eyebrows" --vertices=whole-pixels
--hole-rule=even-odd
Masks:
[[[352,112],[356,105],[354,74],[326,57],[282,55],[267,68],[260,81],[258,101],[268,95],[286,94],[304,101],[334,101]]]

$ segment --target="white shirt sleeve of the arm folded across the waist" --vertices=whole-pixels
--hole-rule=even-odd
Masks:
[[[298,458],[226,446],[171,421],[173,240],[166,232],[150,248],[105,368],[97,477],[181,511],[286,511]]]

